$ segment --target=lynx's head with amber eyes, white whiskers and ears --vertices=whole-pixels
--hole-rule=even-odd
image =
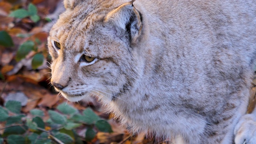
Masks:
[[[115,100],[140,75],[140,12],[113,0],[64,0],[64,6],[48,37],[52,85],[70,101],[90,94]]]

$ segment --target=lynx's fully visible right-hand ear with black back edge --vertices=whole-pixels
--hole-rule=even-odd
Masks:
[[[135,43],[142,31],[142,17],[132,2],[122,4],[109,12],[104,21],[113,25],[119,33],[128,32],[131,42]]]

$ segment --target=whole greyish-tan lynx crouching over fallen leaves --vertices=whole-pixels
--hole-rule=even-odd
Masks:
[[[51,83],[97,96],[131,132],[172,144],[256,144],[246,114],[255,0],[64,0],[48,38]]]

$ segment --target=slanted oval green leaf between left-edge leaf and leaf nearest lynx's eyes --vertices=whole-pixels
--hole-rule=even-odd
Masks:
[[[34,49],[34,45],[34,42],[30,40],[21,44],[16,54],[16,60],[20,61],[22,58],[25,58],[26,55]]]

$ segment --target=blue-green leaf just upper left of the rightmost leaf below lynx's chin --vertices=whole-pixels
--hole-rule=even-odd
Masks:
[[[100,117],[95,114],[91,108],[86,108],[83,111],[83,114],[83,122],[85,122],[86,124],[94,124],[97,120],[100,120]]]

